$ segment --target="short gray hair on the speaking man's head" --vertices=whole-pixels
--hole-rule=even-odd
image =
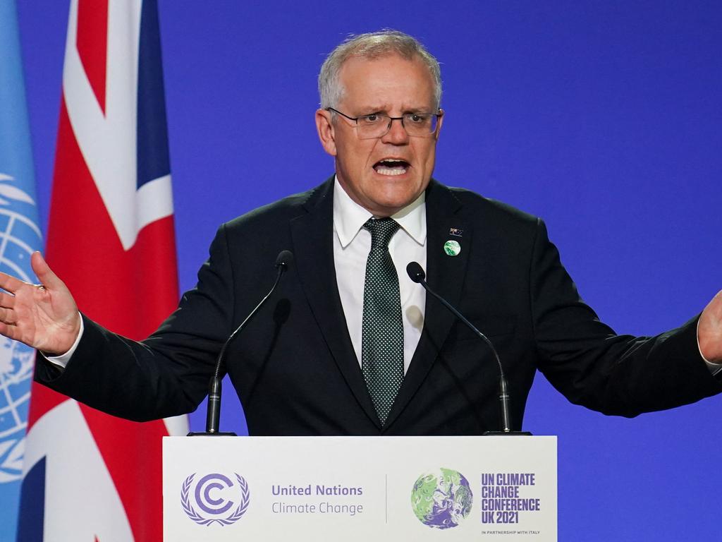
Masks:
[[[352,56],[363,59],[377,59],[388,54],[398,54],[404,59],[420,59],[429,69],[434,80],[434,99],[436,107],[441,104],[441,69],[439,61],[426,50],[416,38],[399,30],[380,30],[367,34],[352,35],[329,53],[318,74],[318,94],[321,96],[321,108],[338,105],[344,95],[344,87],[339,81],[339,72],[344,62]]]

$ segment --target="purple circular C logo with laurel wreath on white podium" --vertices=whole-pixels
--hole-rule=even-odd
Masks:
[[[235,483],[220,473],[206,474],[196,483],[196,473],[181,486],[183,512],[199,525],[231,525],[243,517],[251,502],[251,491],[243,476],[233,473]]]

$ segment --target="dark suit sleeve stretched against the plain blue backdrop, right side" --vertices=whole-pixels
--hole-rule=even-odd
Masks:
[[[572,403],[632,417],[722,391],[697,348],[698,317],[656,337],[617,335],[581,301],[541,220],[529,275],[539,369]]]

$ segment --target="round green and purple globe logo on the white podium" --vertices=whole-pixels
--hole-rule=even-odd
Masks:
[[[474,495],[469,481],[456,470],[419,476],[411,492],[411,506],[419,521],[435,529],[450,529],[469,515]]]

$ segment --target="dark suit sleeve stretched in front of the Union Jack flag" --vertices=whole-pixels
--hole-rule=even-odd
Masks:
[[[198,284],[142,342],[83,315],[84,333],[66,369],[38,356],[35,379],[92,408],[133,421],[188,413],[206,395],[234,318],[234,282],[225,227],[219,228]]]

